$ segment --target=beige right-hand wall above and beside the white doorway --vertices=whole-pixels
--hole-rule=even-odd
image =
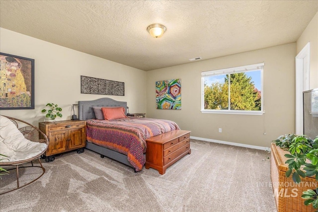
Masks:
[[[297,40],[297,54],[310,42],[310,89],[318,88],[318,12]]]

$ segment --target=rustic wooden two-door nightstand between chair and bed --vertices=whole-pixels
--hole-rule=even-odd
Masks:
[[[82,153],[86,140],[86,122],[81,120],[40,122],[39,129],[48,137],[49,146],[45,152],[45,161],[52,162],[55,154],[77,149]],[[40,137],[41,139],[41,137]]]

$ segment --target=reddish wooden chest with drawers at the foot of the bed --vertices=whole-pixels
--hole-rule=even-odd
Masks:
[[[154,168],[160,174],[186,154],[191,154],[190,132],[174,130],[146,139],[146,169]]]

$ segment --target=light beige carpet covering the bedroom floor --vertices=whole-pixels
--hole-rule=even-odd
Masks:
[[[266,151],[191,140],[164,175],[133,168],[85,149],[43,163],[34,183],[0,196],[1,212],[277,212]],[[40,169],[20,170],[21,181]],[[15,186],[15,172],[2,176]]]

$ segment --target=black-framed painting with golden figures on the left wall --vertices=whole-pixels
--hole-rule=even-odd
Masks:
[[[34,109],[34,59],[0,53],[0,110]]]

